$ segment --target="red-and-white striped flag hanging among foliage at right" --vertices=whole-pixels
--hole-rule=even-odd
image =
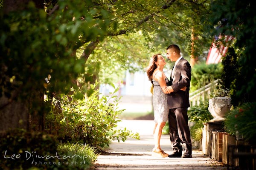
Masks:
[[[218,37],[219,39],[221,36]],[[209,50],[206,64],[217,64],[221,62],[222,57],[225,57],[225,54],[227,52],[227,49],[230,45],[230,41],[233,39],[233,36],[226,35],[224,37],[224,41],[226,43],[218,42],[218,45],[216,45],[214,42],[212,42],[212,47]]]

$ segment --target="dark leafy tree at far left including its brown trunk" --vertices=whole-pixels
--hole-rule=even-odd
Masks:
[[[67,92],[75,86],[72,80],[84,70],[85,63],[84,58],[76,58],[79,35],[83,35],[83,41],[102,37],[104,28],[109,25],[108,19],[104,11],[99,11],[102,20],[93,20],[95,11],[86,11],[86,22],[76,20],[81,17],[81,8],[63,1],[48,14],[31,1],[27,1],[21,11],[19,8],[7,10],[15,1],[4,2],[6,11],[1,15],[3,25],[0,27],[0,72],[3,75],[0,108],[5,123],[1,128],[31,129],[35,126],[35,130],[42,130],[45,91],[50,94]]]

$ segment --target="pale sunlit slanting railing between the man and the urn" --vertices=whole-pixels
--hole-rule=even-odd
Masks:
[[[218,79],[189,94],[190,106],[195,106],[198,105],[200,102],[208,100],[210,97],[210,93],[212,92],[212,89],[216,87],[217,82]]]

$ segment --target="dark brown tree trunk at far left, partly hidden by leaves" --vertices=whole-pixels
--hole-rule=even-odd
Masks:
[[[4,14],[12,11],[25,10],[29,1],[35,3],[36,8],[44,8],[44,0],[4,0]],[[35,82],[35,87],[37,86]],[[38,89],[31,89],[26,97],[20,97],[22,90],[12,91],[12,97],[0,97],[0,134],[19,129],[41,131],[44,129],[44,94]]]

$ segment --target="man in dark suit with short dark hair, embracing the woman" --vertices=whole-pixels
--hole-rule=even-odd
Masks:
[[[172,69],[170,81],[165,89],[169,106],[169,133],[174,152],[169,157],[192,157],[192,143],[188,125],[187,111],[189,105],[189,85],[191,79],[191,66],[189,62],[180,55],[177,45],[170,45],[167,49],[167,57],[175,62]],[[186,91],[180,90],[186,87]],[[182,155],[182,146],[186,145]]]

